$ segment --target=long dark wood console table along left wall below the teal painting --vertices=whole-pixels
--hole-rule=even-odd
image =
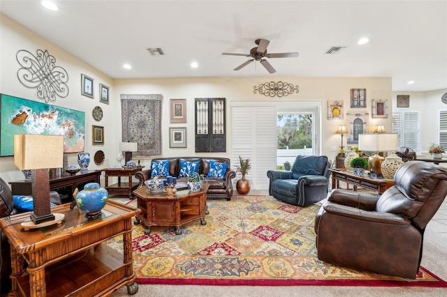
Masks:
[[[62,203],[73,201],[73,192],[75,188],[84,190],[87,183],[100,183],[102,170],[91,170],[89,172],[77,174],[64,174],[61,176],[50,177],[50,190],[57,191],[61,197]],[[11,190],[13,195],[32,195],[31,181],[11,181]]]

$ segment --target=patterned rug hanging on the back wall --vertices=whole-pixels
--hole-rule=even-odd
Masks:
[[[121,96],[122,141],[138,142],[135,157],[161,156],[160,94]]]

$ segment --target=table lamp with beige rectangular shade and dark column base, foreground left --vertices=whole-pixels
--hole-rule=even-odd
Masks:
[[[44,222],[54,220],[60,222],[64,219],[64,214],[58,213],[55,216],[51,213],[50,174],[48,171],[50,168],[61,168],[63,166],[64,136],[14,135],[14,162],[21,170],[31,170],[34,205],[31,221],[34,225],[40,224],[40,227]]]

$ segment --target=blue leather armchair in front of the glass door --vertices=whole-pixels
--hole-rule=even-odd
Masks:
[[[291,171],[269,170],[268,192],[288,204],[307,206],[328,195],[330,163],[325,155],[298,155]]]

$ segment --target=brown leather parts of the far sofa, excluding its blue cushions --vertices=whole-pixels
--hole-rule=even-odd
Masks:
[[[207,176],[210,170],[210,160],[214,162],[226,163],[228,167],[226,169],[225,178],[206,177],[206,181],[209,185],[207,190],[208,198],[225,198],[228,201],[233,197],[233,182],[232,178],[236,176],[236,172],[230,168],[229,158],[208,158],[208,157],[177,157],[177,158],[154,158],[152,162],[159,162],[169,160],[169,174],[171,176],[179,176],[180,174],[180,161],[186,162],[200,162],[198,167],[198,174]],[[151,178],[151,169],[142,170],[137,172],[135,177],[139,179],[138,188],[145,186],[145,181]],[[186,181],[186,178],[182,178]],[[179,181],[182,181],[179,179]]]

